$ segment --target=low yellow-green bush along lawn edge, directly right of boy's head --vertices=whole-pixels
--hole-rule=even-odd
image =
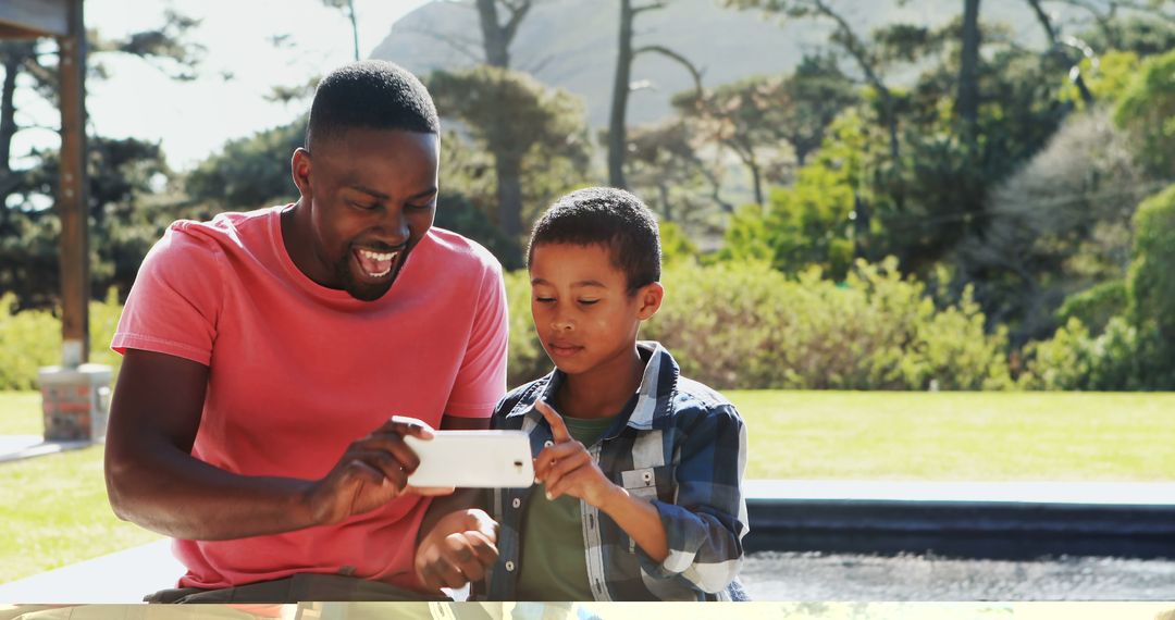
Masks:
[[[945,390],[1012,385],[1002,332],[986,335],[969,294],[938,309],[897,261],[858,262],[842,285],[765,263],[667,270],[660,341],[685,375],[719,389]]]

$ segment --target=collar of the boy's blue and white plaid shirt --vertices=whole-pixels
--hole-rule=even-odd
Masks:
[[[639,431],[647,431],[659,426],[659,422],[670,417],[672,398],[669,397],[677,389],[680,369],[673,356],[658,342],[638,341],[637,351],[640,353],[640,359],[645,362],[645,372],[640,377],[640,386],[637,389],[637,406],[632,410],[625,425]],[[535,383],[537,393],[532,392],[521,398],[506,413],[506,417],[529,416],[536,424],[540,423],[543,415],[535,409],[535,403],[538,400],[553,403],[555,395],[566,377],[562,370],[552,370]],[[612,426],[605,438],[616,437],[620,429],[623,426]]]

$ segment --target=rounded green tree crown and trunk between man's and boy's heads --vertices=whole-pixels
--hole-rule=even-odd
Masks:
[[[481,66],[428,79],[437,108],[462,121],[494,157],[497,223],[506,237],[522,232],[522,171],[528,157],[564,157],[586,163],[583,105],[533,78]],[[503,112],[508,113],[505,122]]]

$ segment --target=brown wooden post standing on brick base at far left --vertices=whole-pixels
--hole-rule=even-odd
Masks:
[[[61,365],[89,359],[89,197],[86,175],[86,27],[69,0],[69,33],[58,38],[61,72]]]

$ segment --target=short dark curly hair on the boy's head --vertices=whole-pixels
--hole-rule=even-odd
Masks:
[[[604,245],[624,272],[629,295],[660,279],[657,220],[640,198],[615,188],[586,188],[557,200],[530,234],[526,264],[543,243]]]

